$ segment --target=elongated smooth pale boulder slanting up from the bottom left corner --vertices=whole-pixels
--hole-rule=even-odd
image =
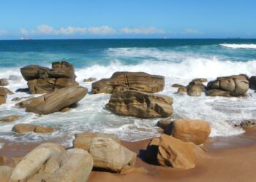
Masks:
[[[64,152],[65,149],[55,143],[42,143],[34,150],[26,154],[25,157],[18,163],[10,176],[10,182],[28,181],[38,170],[50,159],[53,155],[58,155]]]

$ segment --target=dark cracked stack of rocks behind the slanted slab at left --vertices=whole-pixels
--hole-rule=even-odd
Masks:
[[[78,82],[75,82],[75,70],[66,61],[52,63],[52,68],[30,65],[20,68],[20,72],[28,81],[31,94],[50,93],[78,85]]]

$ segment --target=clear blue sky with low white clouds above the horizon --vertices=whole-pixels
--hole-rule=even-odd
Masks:
[[[256,38],[255,0],[1,0],[0,39]]]

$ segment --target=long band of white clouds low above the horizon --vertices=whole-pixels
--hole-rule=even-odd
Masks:
[[[99,27],[72,27],[68,26],[66,28],[53,28],[49,25],[38,25],[35,29],[25,29],[21,28],[20,33],[23,35],[30,34],[45,34],[45,35],[72,35],[72,34],[95,34],[95,35],[110,35],[110,34],[154,34],[154,33],[165,33],[161,29],[154,27],[149,28],[121,28],[119,31],[111,28],[108,25],[102,25]]]

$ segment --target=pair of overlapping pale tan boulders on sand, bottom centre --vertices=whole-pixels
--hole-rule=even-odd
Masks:
[[[135,165],[137,155],[121,146],[115,135],[94,133],[76,135],[75,148],[89,151],[94,159],[94,167],[112,172],[121,172],[128,166]]]

